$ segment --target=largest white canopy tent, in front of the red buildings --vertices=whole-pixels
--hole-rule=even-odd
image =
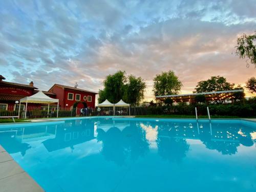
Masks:
[[[20,103],[26,102],[26,108],[25,108],[25,119],[27,117],[27,108],[28,103],[46,103],[48,104],[48,114],[49,114],[49,104],[50,103],[58,103],[57,104],[57,117],[59,112],[59,99],[53,99],[51,97],[48,97],[46,94],[42,93],[42,91],[39,91],[38,93],[31,95],[29,97],[25,97],[23,99],[19,100],[19,108],[18,108],[18,114],[20,112]]]

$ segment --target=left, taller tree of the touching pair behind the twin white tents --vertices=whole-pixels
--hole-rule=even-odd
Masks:
[[[126,82],[125,71],[118,71],[115,74],[106,76],[103,81],[104,89],[99,90],[98,102],[108,99],[117,103],[124,95],[124,83]]]

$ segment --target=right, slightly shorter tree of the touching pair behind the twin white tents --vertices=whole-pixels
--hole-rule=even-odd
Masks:
[[[127,84],[125,84],[124,100],[132,105],[139,104],[144,98],[146,83],[141,77],[130,75]]]

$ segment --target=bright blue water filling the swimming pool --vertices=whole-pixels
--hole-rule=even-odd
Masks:
[[[47,192],[256,191],[252,122],[86,118],[0,125],[0,144]]]

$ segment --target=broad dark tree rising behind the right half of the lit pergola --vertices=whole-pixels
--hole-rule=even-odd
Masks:
[[[212,76],[210,79],[199,81],[194,93],[232,90],[234,83],[227,82],[225,77]]]

